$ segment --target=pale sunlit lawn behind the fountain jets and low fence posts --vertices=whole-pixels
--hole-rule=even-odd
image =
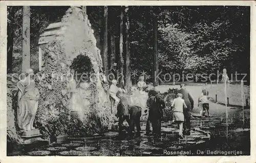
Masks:
[[[200,113],[200,109],[197,106],[198,105],[198,98],[201,94],[203,84],[198,83],[189,83],[189,85],[186,86],[186,89],[192,94],[194,98],[194,113]],[[166,92],[169,88],[177,88],[180,89],[179,85],[160,85],[157,86],[156,89],[160,92]],[[215,99],[215,95],[217,94],[217,100],[218,103],[224,103],[225,104],[225,94],[224,94],[224,85],[210,85],[207,86],[207,90],[209,91],[209,96]],[[245,93],[245,99],[247,98],[248,101],[250,101],[250,87],[244,86],[244,93]],[[229,104],[230,105],[242,105],[241,100],[241,85],[229,85],[227,87],[227,97],[229,97]],[[222,117],[223,119],[226,118],[226,107],[224,105],[220,105],[218,103],[209,103],[209,112],[211,116],[214,117]],[[245,103],[244,103],[245,105]],[[228,112],[228,118],[233,119],[243,119],[243,111],[241,107],[227,107]],[[235,109],[234,109],[235,108]],[[244,117],[249,118],[250,117],[250,110],[245,109],[244,110]]]

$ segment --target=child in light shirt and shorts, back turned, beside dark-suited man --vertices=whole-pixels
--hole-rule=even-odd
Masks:
[[[183,138],[182,128],[184,122],[183,106],[186,109],[184,99],[182,99],[182,94],[178,93],[178,97],[174,99],[172,107],[174,107],[173,119],[179,124],[179,136]]]

